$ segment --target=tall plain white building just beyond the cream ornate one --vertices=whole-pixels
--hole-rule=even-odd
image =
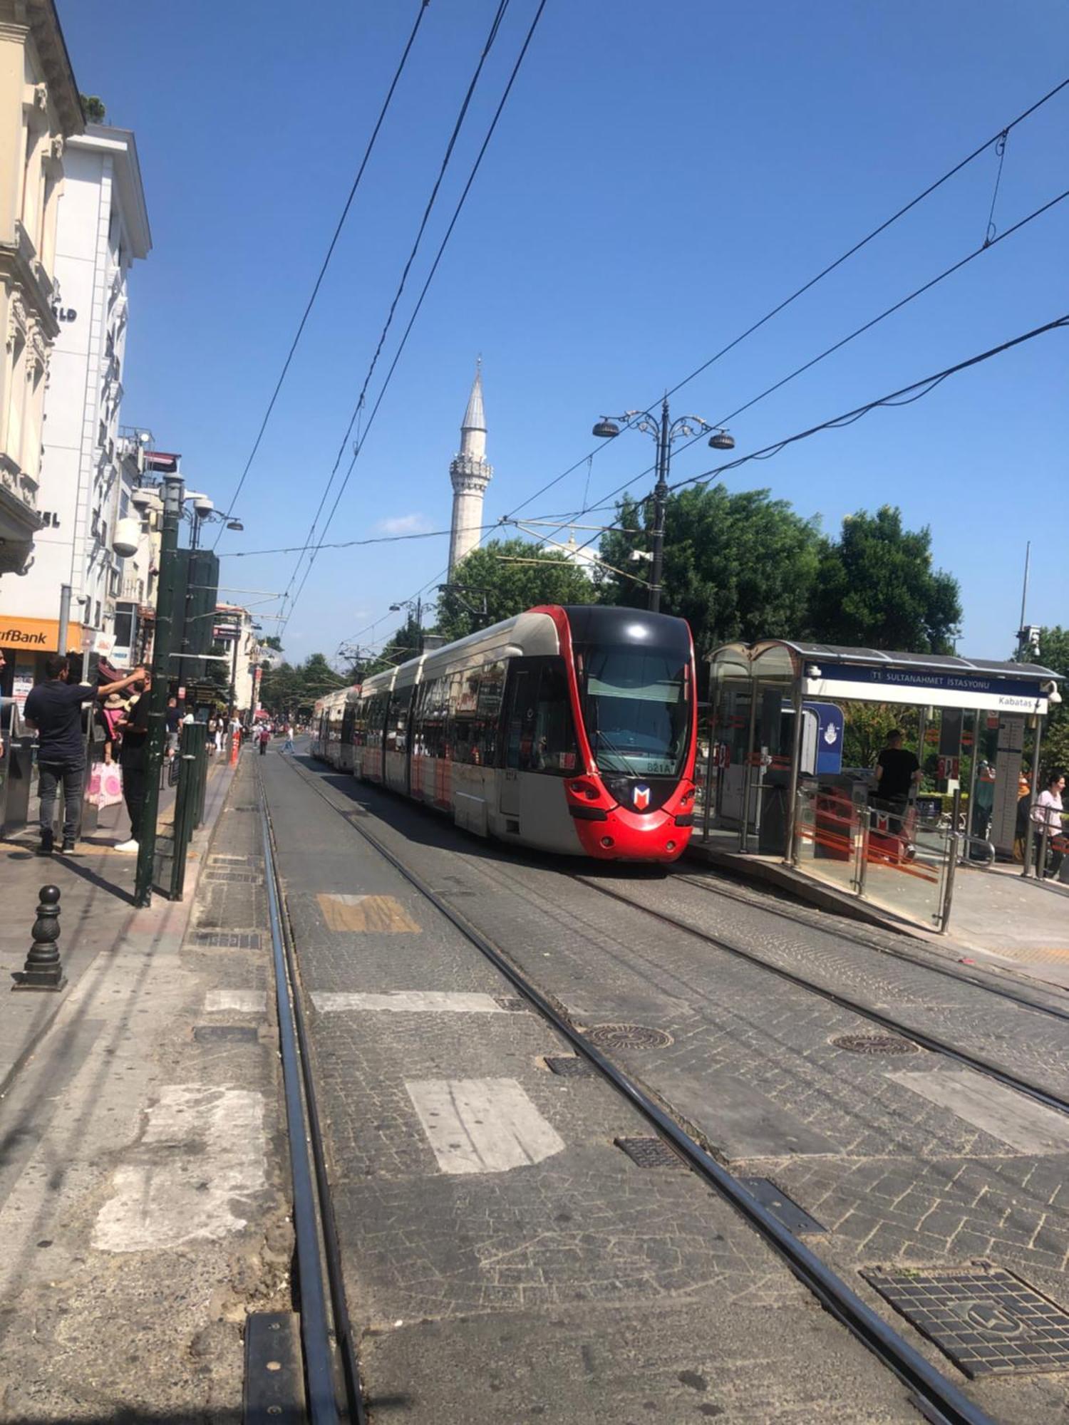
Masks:
[[[147,570],[125,569],[131,561],[111,542],[117,523],[137,513],[123,477],[118,422],[128,275],[148,255],[151,234],[133,133],[90,124],[68,140],[64,168],[56,232],[60,321],[38,490],[43,529],[26,576],[4,584],[4,613],[56,621],[61,589],[70,584],[66,653],[88,634],[114,636],[117,611],[128,613],[145,597],[135,586],[145,583]],[[51,641],[46,651],[56,647]]]

